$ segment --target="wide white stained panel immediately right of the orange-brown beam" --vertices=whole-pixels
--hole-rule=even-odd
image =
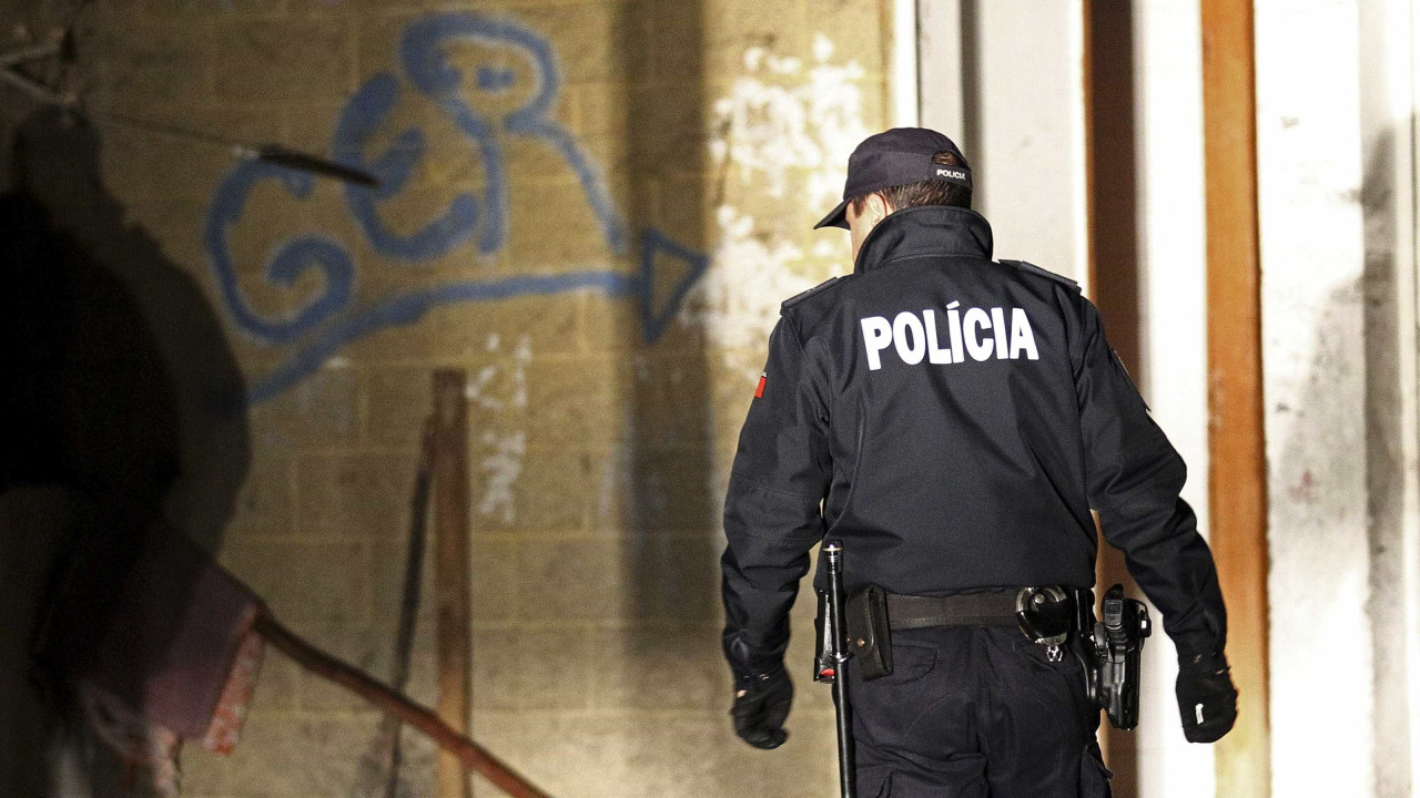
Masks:
[[[1255,17],[1272,794],[1370,795],[1359,0]]]

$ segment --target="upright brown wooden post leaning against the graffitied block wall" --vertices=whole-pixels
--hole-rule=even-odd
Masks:
[[[439,717],[469,734],[469,429],[464,372],[435,372],[435,595],[439,623]],[[459,757],[439,754],[439,798],[469,798]]]

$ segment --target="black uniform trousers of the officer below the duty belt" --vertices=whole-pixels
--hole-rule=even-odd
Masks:
[[[892,636],[890,676],[863,682],[849,660],[859,798],[1108,798],[1069,652],[1052,663],[1004,626]]]

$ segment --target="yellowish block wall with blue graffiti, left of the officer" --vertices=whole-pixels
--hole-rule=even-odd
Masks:
[[[33,34],[62,11],[10,6]],[[89,6],[74,81],[94,108],[385,179],[348,195],[101,126],[105,189],[196,278],[253,393],[222,561],[388,674],[430,373],[462,368],[474,736],[554,795],[831,792],[832,711],[807,677],[784,748],[730,728],[719,508],[778,302],[846,270],[846,236],[809,227],[885,125],[882,6]],[[426,609],[410,693],[432,703]],[[355,794],[376,723],[273,653],[241,744],[187,751],[185,792]],[[430,795],[432,750],[406,740]]]

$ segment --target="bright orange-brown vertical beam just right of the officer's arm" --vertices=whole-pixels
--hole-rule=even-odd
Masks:
[[[1237,727],[1216,745],[1217,795],[1262,798],[1271,728],[1252,1],[1203,0],[1201,13],[1210,545],[1240,692]]]

